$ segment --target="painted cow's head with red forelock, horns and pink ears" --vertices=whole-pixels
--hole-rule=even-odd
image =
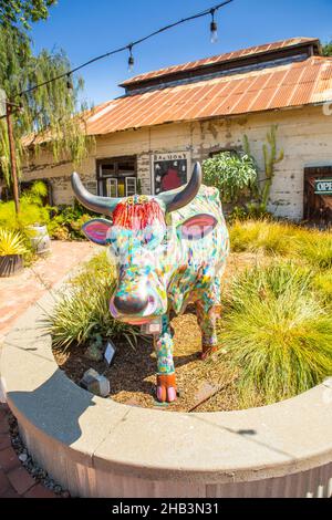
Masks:
[[[176,256],[177,247],[170,243],[176,238],[167,236],[166,214],[189,204],[200,184],[198,163],[185,187],[154,197],[100,197],[84,188],[77,174],[72,175],[73,190],[80,202],[112,218],[112,221],[90,220],[83,231],[93,242],[108,246],[110,260],[116,266],[118,283],[110,302],[115,319],[143,324],[167,311],[169,260]],[[207,222],[197,216],[184,222],[181,231],[185,237],[195,239],[195,229],[200,232],[203,226]]]

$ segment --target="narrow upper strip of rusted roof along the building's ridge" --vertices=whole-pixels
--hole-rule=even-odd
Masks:
[[[302,38],[302,37],[291,38],[289,40],[281,40],[281,41],[278,41],[278,42],[266,43],[263,45],[250,46],[250,48],[247,48],[247,49],[241,49],[239,51],[227,52],[225,54],[218,54],[216,56],[205,58],[203,60],[197,60],[197,61],[193,61],[193,62],[183,63],[181,65],[173,65],[173,66],[168,66],[168,67],[165,67],[165,69],[159,69],[157,71],[146,72],[145,74],[139,74],[139,75],[134,76],[129,80],[126,80],[121,85],[122,86],[134,85],[136,83],[141,83],[141,82],[144,82],[146,80],[152,80],[154,77],[162,77],[162,76],[166,76],[168,74],[174,74],[174,73],[178,73],[178,72],[183,72],[183,71],[188,72],[188,71],[194,70],[194,69],[205,67],[207,65],[212,65],[212,64],[215,65],[217,63],[227,63],[230,60],[237,60],[239,58],[249,58],[249,56],[252,56],[252,55],[259,55],[259,54],[262,54],[264,52],[278,51],[278,50],[281,50],[281,49],[287,49],[287,48],[290,48],[290,46],[300,45],[301,43],[309,43],[309,42],[312,42],[312,43],[317,42],[319,44],[319,40],[315,39],[315,38]]]

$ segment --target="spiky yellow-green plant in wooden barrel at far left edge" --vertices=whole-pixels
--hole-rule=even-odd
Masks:
[[[23,268],[23,254],[28,250],[17,231],[0,228],[0,277],[12,277]]]

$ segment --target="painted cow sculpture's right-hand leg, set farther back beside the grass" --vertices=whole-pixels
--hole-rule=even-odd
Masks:
[[[209,305],[210,303],[210,305]],[[197,322],[201,331],[201,360],[217,351],[218,339],[216,320],[220,312],[220,305],[215,302],[196,302]]]

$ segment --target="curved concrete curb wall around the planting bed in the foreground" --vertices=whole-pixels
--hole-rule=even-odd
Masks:
[[[38,462],[72,496],[329,496],[332,378],[289,401],[168,413],[102,399],[58,367],[40,327],[45,294],[6,339],[8,404]]]

